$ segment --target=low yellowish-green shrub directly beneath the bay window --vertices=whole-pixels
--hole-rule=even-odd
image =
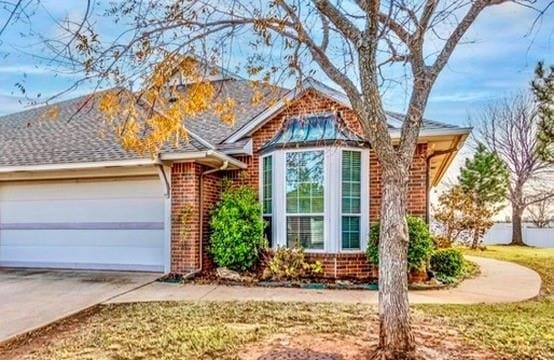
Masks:
[[[269,261],[264,277],[274,280],[298,280],[323,272],[321,262],[306,261],[304,248],[296,244],[294,248],[278,247]]]

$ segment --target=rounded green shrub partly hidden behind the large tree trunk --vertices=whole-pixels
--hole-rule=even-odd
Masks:
[[[425,266],[433,252],[433,238],[425,222],[415,216],[407,216],[408,233],[408,270],[420,270]],[[367,258],[373,264],[379,264],[379,223],[371,225]]]

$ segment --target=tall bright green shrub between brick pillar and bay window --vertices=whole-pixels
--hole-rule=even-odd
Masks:
[[[210,252],[221,267],[246,271],[265,245],[261,206],[248,186],[228,187],[211,218]]]

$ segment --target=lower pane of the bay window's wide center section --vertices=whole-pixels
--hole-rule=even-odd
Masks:
[[[323,216],[287,216],[287,245],[323,249]]]

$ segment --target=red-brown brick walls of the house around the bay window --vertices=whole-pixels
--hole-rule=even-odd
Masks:
[[[247,184],[258,189],[260,148],[275,136],[283,121],[293,115],[309,115],[317,112],[339,111],[346,126],[361,134],[361,126],[355,114],[348,108],[336,102],[308,91],[300,99],[293,102],[282,113],[268,121],[252,136],[254,156],[239,157],[248,165],[246,170],[230,171],[224,174],[208,175],[204,179],[203,198],[203,267],[213,266],[208,255],[209,219],[213,206],[221,192],[221,176],[232,179],[235,183]],[[427,145],[418,145],[414,162],[410,169],[408,212],[425,216],[426,207],[426,151]],[[370,151],[369,187],[370,187],[370,221],[379,218],[381,205],[381,171],[379,162],[373,151]],[[196,163],[175,164],[172,167],[172,233],[171,233],[171,269],[173,272],[186,273],[196,270],[200,265],[200,215],[199,215],[199,184],[200,174],[206,170]],[[181,213],[187,207],[192,215],[187,219],[186,238],[181,238]],[[372,266],[368,264],[365,253],[341,254],[309,254],[309,259],[319,260],[323,264],[324,276],[337,278],[368,278],[374,276]]]

